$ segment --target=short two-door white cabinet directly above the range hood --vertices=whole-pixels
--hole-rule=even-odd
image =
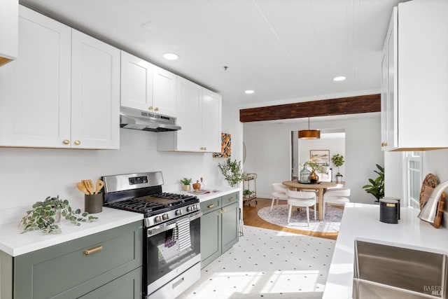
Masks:
[[[121,51],[121,106],[176,117],[176,75]]]

